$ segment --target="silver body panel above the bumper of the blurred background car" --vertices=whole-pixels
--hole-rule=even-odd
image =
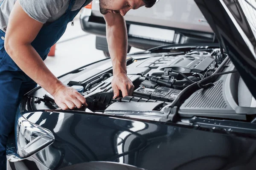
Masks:
[[[102,17],[99,0],[92,1],[92,14]],[[209,24],[193,0],[159,0],[151,8],[130,10],[126,21],[170,28],[212,32]]]

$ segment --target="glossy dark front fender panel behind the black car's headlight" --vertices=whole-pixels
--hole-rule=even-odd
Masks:
[[[256,167],[255,134],[76,111],[38,111],[23,116],[55,135],[51,145],[32,155],[49,169],[90,161],[147,170]]]

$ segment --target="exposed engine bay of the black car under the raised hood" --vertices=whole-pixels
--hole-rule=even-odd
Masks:
[[[256,113],[255,99],[219,48],[183,48],[130,57],[127,74],[134,84],[132,96],[120,93],[113,99],[113,72],[108,60],[95,68],[81,68],[65,75],[63,82],[83,96],[106,88],[86,98],[87,108],[74,110],[157,121],[173,121],[174,115],[183,117],[183,121],[195,116],[252,121],[249,114]],[[220,75],[214,76],[217,73]],[[194,89],[188,91],[192,86]],[[28,96],[32,97],[32,110],[58,109],[53,97],[42,88]]]

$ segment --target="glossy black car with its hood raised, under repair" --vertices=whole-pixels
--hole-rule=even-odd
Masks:
[[[111,59],[61,76],[87,108],[57,110],[41,87],[23,97],[6,156],[12,170],[253,170],[256,12],[251,0],[195,0],[219,44],[128,55],[133,96],[113,99]]]

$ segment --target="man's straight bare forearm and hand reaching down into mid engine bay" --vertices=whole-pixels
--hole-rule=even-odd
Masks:
[[[127,54],[127,29],[121,14],[108,13],[104,15],[106,21],[106,32],[108,49],[113,65],[112,88],[114,97],[128,96],[133,93],[134,85],[127,77],[126,54]]]

